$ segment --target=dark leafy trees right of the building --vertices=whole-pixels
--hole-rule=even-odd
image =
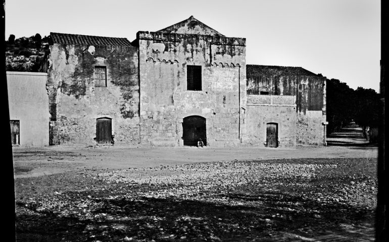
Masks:
[[[350,88],[337,79],[327,79],[328,131],[337,131],[352,120],[366,130],[376,128],[381,112],[380,95],[373,89]]]

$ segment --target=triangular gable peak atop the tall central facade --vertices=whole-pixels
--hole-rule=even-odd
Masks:
[[[224,36],[213,28],[195,19],[193,16],[167,28],[158,30],[157,32]]]

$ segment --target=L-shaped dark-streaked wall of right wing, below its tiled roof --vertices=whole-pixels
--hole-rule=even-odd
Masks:
[[[301,145],[323,145],[326,121],[325,77],[316,76],[250,76],[247,93],[295,96],[296,142]]]

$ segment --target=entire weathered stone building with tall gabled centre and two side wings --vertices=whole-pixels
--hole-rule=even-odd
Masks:
[[[50,144],[323,145],[325,77],[246,64],[246,39],[192,16],[126,38],[51,33]]]

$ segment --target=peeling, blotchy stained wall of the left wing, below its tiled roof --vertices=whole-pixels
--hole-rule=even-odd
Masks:
[[[47,89],[52,144],[94,144],[96,118],[112,118],[115,143],[139,143],[136,47],[50,46]],[[107,68],[107,87],[94,85],[94,67]]]

